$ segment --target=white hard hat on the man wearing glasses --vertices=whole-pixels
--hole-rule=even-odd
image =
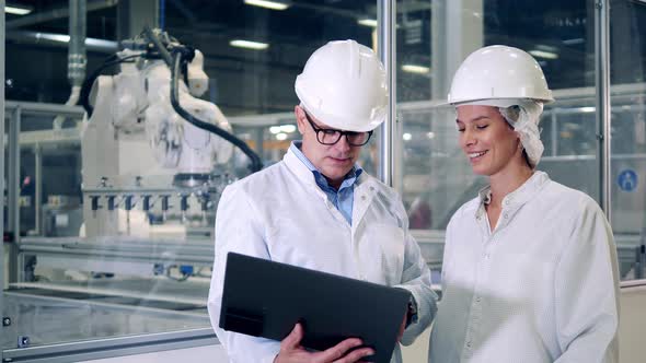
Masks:
[[[372,49],[355,40],[330,42],[314,51],[295,90],[308,113],[336,129],[370,131],[385,119],[385,70]]]

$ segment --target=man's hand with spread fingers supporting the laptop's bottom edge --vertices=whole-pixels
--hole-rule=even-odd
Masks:
[[[280,342],[280,352],[274,359],[274,363],[353,363],[364,362],[360,359],[374,354],[371,348],[361,348],[348,353],[348,350],[362,344],[358,338],[346,339],[322,352],[307,351],[300,344],[301,339],[303,339],[303,327],[298,323],[289,336]]]

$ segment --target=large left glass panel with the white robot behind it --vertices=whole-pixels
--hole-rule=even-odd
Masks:
[[[68,97],[77,102],[67,79],[68,19],[58,15],[69,2],[38,2],[32,15],[42,16],[32,21],[7,17],[7,98],[20,102],[8,105],[7,115],[21,109],[20,175],[12,177],[20,180],[22,237],[3,312],[14,324],[2,348],[15,348],[21,336],[42,346],[210,327],[215,211],[222,188],[247,175],[250,163],[240,151],[228,156],[227,142],[169,118],[169,70],[158,51],[138,55],[148,40],[137,24],[159,16],[170,36],[161,35],[162,43],[204,54],[208,90],[196,91],[205,79],[194,82],[199,78],[191,69],[192,95],[180,91],[180,103],[208,121],[218,120],[217,105],[265,165],[299,139],[293,82],[312,51],[334,39],[370,47],[376,39],[374,23],[358,22],[377,19],[373,0],[290,1],[285,11],[243,1],[172,1],[161,14],[154,0],[115,3],[88,12],[93,39],[85,75],[103,74],[89,92],[89,120],[81,107],[60,107]],[[120,44],[128,50],[117,62],[117,42],[125,39],[131,42]],[[264,45],[241,48],[235,39]],[[365,147],[369,173],[376,140]],[[219,159],[201,168],[181,159],[199,148]]]

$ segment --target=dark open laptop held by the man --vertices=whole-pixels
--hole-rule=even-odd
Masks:
[[[325,350],[347,338],[390,362],[411,293],[235,253],[227,256],[220,328],[282,340],[300,321],[301,344]]]

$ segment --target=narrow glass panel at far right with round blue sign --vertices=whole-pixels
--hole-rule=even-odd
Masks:
[[[611,1],[612,230],[622,279],[646,266],[646,3]]]

